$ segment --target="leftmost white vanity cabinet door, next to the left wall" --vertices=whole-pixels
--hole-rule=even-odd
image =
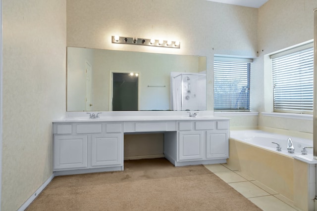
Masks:
[[[87,167],[87,135],[54,136],[54,169]]]

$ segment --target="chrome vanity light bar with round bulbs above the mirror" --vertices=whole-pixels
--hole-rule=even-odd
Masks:
[[[119,36],[112,36],[111,38],[112,38],[111,39],[112,43],[139,44],[139,45],[148,45],[148,46],[157,46],[157,47],[180,48],[179,41],[163,41],[163,40],[128,38],[128,37],[119,37]]]

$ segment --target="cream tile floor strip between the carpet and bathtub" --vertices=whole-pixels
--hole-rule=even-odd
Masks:
[[[228,169],[226,164],[204,166],[263,211],[300,211],[287,198],[240,171]]]

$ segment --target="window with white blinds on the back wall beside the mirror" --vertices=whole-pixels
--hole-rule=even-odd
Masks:
[[[215,111],[250,111],[252,59],[214,57]]]

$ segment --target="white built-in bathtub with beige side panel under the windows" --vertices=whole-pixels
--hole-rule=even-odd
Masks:
[[[289,137],[295,147],[294,154],[287,152],[287,139]],[[277,145],[271,142],[280,144],[282,151],[277,151]],[[306,169],[309,169],[310,165],[293,157],[301,155],[303,147],[307,146],[313,146],[313,140],[279,135],[262,130],[231,130],[227,166],[231,170],[239,170],[243,174],[251,176],[293,202],[297,200],[299,203],[302,203],[302,201],[306,203],[310,200],[310,196],[304,196],[303,193],[307,191],[297,189],[298,187],[307,188],[309,186],[307,181],[301,178],[303,175],[307,175]],[[313,154],[313,149],[307,150],[309,154]],[[294,169],[296,170],[294,171]],[[299,169],[305,170],[300,171]],[[307,177],[309,178],[309,176]],[[296,191],[294,191],[295,189]],[[309,201],[309,203],[312,202]]]

